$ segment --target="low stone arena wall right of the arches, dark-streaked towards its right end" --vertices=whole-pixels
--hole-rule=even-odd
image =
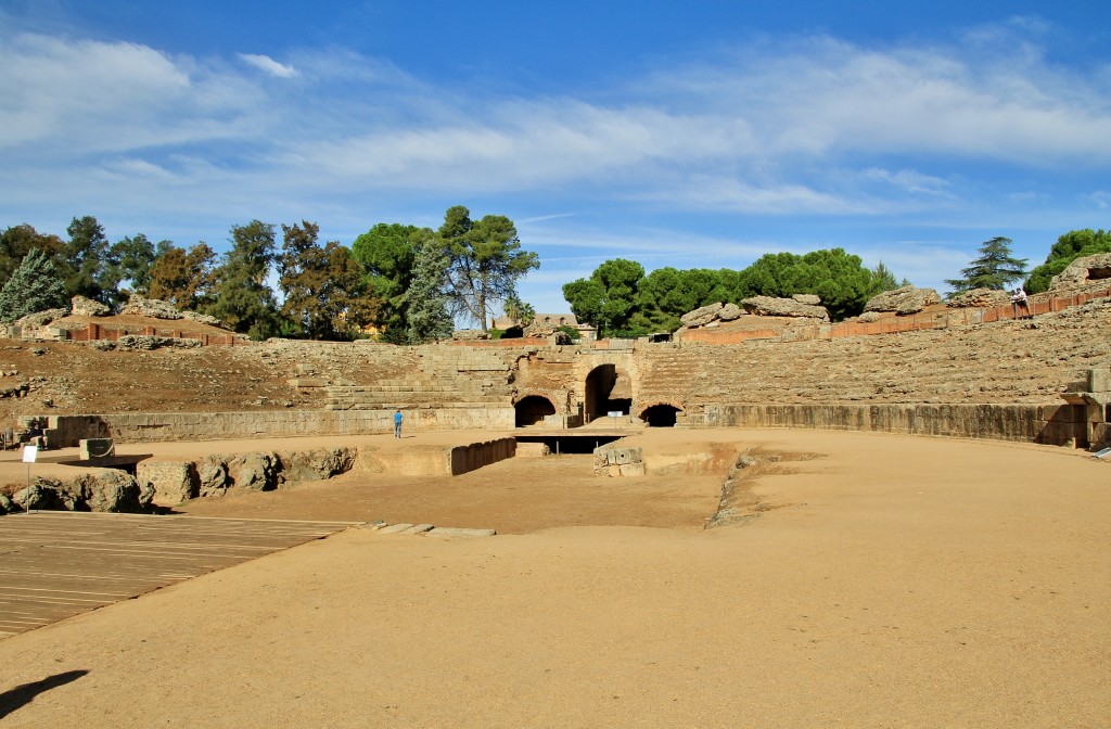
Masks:
[[[707,405],[708,428],[812,428],[989,438],[1087,448],[1083,407],[1072,405]]]

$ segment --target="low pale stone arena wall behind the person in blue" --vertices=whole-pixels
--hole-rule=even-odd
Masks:
[[[442,408],[407,410],[407,432],[463,429],[512,429],[513,408]],[[177,440],[237,440],[303,436],[361,436],[393,431],[392,410],[271,410],[256,412],[141,412],[101,416],[51,416],[47,435],[54,448],[87,438],[117,443]]]

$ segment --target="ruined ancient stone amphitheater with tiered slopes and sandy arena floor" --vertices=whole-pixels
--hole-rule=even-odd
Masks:
[[[1111,298],[1008,310],[573,346],[198,347],[127,318],[9,340],[0,409],[53,446],[36,475],[188,516],[0,518],[0,719],[1105,726]]]

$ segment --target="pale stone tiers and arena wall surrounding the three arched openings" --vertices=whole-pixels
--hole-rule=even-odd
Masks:
[[[514,405],[542,397],[581,413],[590,372],[612,364],[640,416],[654,405],[685,427],[808,427],[1088,445],[1105,411],[1065,402],[1089,370],[1111,369],[1111,302],[1029,321],[831,340],[741,344],[608,340],[594,346],[261,344],[323,388],[323,410],[119,413],[54,419],[61,441],[272,438],[389,432],[394,407],[413,430],[512,429]],[[250,348],[241,348],[246,350]],[[288,351],[287,351],[288,350]],[[558,418],[557,418],[558,420]],[[564,420],[567,422],[567,420]]]

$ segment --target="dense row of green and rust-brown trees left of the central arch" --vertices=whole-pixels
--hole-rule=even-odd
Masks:
[[[509,218],[472,220],[463,206],[437,231],[379,223],[350,249],[321,243],[319,231],[307,220],[282,224],[279,247],[277,227],[252,220],[231,227],[231,247],[218,256],[203,241],[181,248],[142,233],[110,243],[91,216],[73,218],[68,240],[10,227],[0,233],[0,321],[74,296],[118,310],[138,293],[252,339],[343,340],[372,328],[387,341],[421,343],[450,337],[457,316],[484,328],[491,308],[518,300],[518,279],[540,264]]]

